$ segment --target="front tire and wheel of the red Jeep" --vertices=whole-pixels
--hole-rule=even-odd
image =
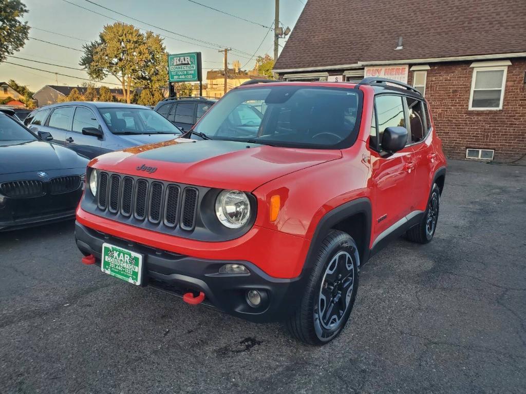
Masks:
[[[356,242],[347,233],[331,231],[316,254],[301,303],[286,321],[293,337],[325,345],[341,333],[355,303],[359,266]]]

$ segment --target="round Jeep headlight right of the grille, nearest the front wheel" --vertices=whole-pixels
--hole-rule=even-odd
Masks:
[[[250,201],[244,192],[223,190],[216,199],[216,215],[222,225],[239,229],[250,217]]]

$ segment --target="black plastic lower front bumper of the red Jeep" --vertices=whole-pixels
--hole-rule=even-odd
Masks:
[[[102,244],[127,248],[144,255],[144,285],[159,288],[182,297],[188,291],[205,293],[205,304],[251,322],[275,322],[285,319],[298,306],[302,287],[301,275],[296,278],[275,278],[248,261],[210,260],[159,250],[144,244],[75,225],[79,250],[95,256],[100,265]],[[219,274],[224,264],[243,264],[250,274]],[[246,301],[248,289],[266,292],[267,297],[257,308]]]

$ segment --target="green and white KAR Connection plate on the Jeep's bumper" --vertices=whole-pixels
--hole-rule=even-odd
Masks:
[[[123,281],[140,285],[143,274],[143,255],[105,243],[102,245],[100,269]]]

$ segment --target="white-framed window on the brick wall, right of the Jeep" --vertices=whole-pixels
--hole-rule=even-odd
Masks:
[[[473,68],[469,109],[502,109],[508,67]]]

